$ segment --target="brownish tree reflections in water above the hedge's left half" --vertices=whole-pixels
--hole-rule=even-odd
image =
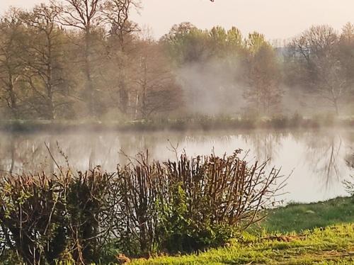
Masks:
[[[149,148],[154,156],[154,148],[161,143],[159,135],[99,133],[82,135],[13,135],[1,133],[0,170],[20,173],[55,171],[55,163],[66,166],[66,158],[73,169],[86,170],[98,165],[103,169],[115,170],[118,163],[125,160],[120,156],[124,150],[130,156]],[[165,144],[165,142],[164,142]],[[65,157],[63,156],[65,155]]]

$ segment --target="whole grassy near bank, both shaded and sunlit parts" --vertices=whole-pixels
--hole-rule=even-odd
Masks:
[[[290,204],[268,214],[227,247],[132,264],[354,264],[354,198]]]

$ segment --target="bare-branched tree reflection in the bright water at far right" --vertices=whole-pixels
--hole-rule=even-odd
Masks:
[[[343,179],[345,147],[341,135],[335,133],[306,134],[307,152],[305,164],[321,178],[324,188],[329,190]]]

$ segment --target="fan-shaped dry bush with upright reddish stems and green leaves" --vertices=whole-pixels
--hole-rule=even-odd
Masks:
[[[222,244],[235,228],[258,222],[284,182],[277,169],[265,174],[267,162],[249,166],[240,152],[191,159],[183,154],[178,162],[151,164],[142,155],[118,169],[129,231],[129,239],[121,237],[125,246],[140,254],[190,252]]]

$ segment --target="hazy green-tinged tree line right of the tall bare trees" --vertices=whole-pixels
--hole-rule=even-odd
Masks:
[[[311,98],[310,104],[317,102],[315,109],[321,102],[327,111],[336,115],[341,109],[348,113],[349,108],[353,112],[350,101],[353,99],[354,26],[351,23],[341,33],[331,26],[312,26],[284,47],[273,47],[258,32],[244,38],[236,27],[200,30],[190,23],[173,26],[161,41],[167,43],[177,68],[197,63],[205,69],[211,63],[218,64],[219,69],[219,73],[215,69],[207,72],[214,79],[217,76],[224,79],[225,72],[231,73],[229,84],[223,84],[222,80],[215,86],[224,93],[220,102],[229,102],[231,96],[229,104],[243,104],[248,113],[282,113],[287,107],[285,94],[297,94],[300,99],[290,98],[290,101],[299,103]],[[235,89],[241,94],[233,94]],[[193,98],[188,95],[188,89],[185,96]]]

